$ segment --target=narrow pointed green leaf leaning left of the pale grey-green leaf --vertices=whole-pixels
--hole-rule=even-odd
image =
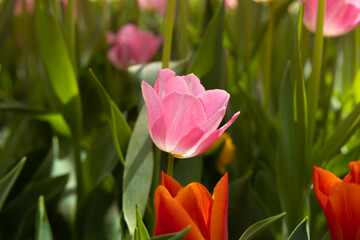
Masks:
[[[120,161],[124,164],[124,154],[127,150],[128,143],[131,136],[131,129],[126,122],[124,116],[121,114],[119,108],[101,85],[94,72],[90,69],[90,74],[95,82],[96,90],[100,96],[102,105],[105,109],[106,117],[110,125],[112,137],[115,143],[115,148],[118,153]]]

